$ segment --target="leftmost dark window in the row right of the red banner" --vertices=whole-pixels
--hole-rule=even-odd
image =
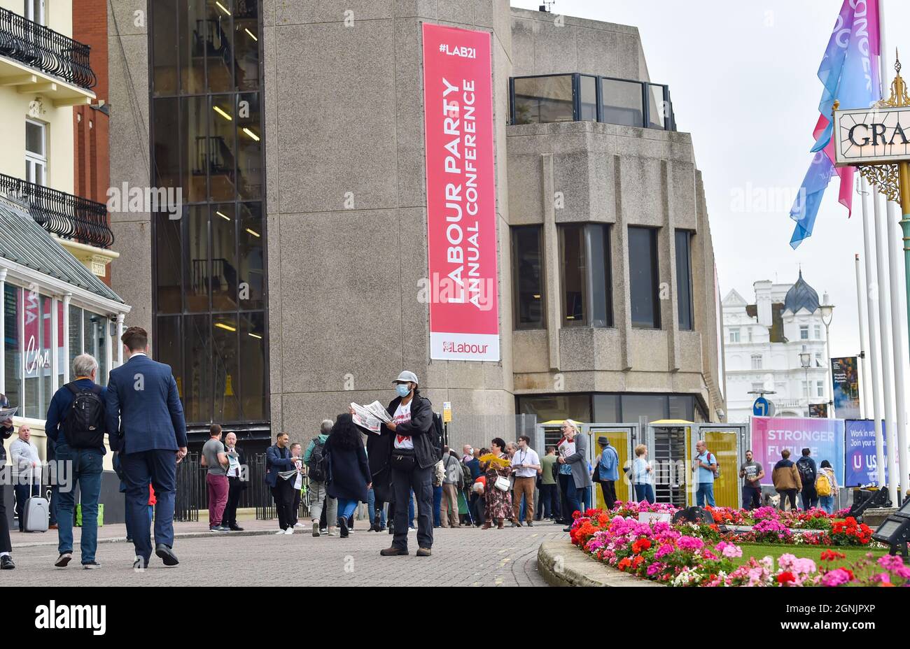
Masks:
[[[512,302],[516,329],[544,329],[543,228],[522,225],[511,229]]]

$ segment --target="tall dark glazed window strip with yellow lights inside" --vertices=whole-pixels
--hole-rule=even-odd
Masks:
[[[188,424],[268,420],[259,5],[150,4],[153,180],[185,205],[153,219],[152,348]]]

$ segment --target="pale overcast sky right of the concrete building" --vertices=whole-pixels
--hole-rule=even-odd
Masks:
[[[525,9],[540,4],[511,0]],[[854,266],[854,255],[863,253],[860,197],[854,194],[848,219],[837,203],[835,177],[814,235],[796,250],[789,212],[812,159],[822,95],[816,74],[842,4],[558,0],[551,8],[638,27],[651,80],[670,85],[677,130],[692,134],[722,297],[735,288],[751,303],[753,282],[793,283],[802,266],[806,282],[820,298],[827,291],[835,306],[832,356],[860,351]],[[910,2],[885,0],[885,21],[890,85],[895,46],[910,64],[910,35],[900,31],[910,24]],[[903,291],[903,274],[900,286]]]

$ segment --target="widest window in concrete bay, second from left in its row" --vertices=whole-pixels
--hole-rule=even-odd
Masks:
[[[560,226],[562,325],[612,326],[608,225]]]

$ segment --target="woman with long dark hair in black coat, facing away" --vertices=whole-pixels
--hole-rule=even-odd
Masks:
[[[366,503],[372,484],[363,435],[350,414],[339,414],[332,432],[326,439],[325,454],[329,458],[330,497],[339,502],[341,538],[348,537],[348,519],[358,503]]]

